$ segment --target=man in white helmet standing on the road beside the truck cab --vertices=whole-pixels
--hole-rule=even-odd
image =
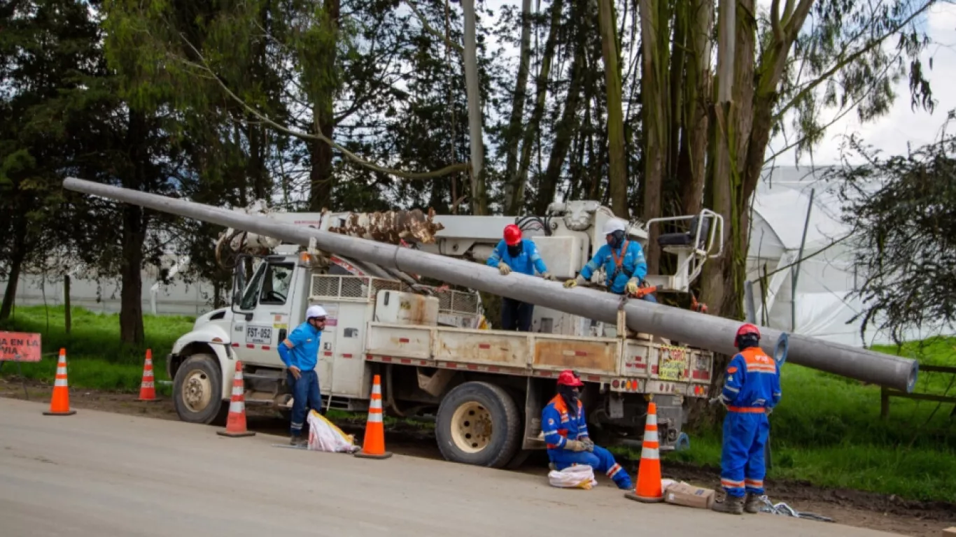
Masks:
[[[289,426],[292,445],[305,445],[308,440],[302,438],[302,426],[309,410],[322,409],[322,394],[318,389],[318,343],[325,329],[325,317],[328,313],[321,306],[310,306],[305,311],[305,322],[295,327],[289,337],[278,345],[279,357],[289,372],[286,382],[293,394],[293,416]]]

